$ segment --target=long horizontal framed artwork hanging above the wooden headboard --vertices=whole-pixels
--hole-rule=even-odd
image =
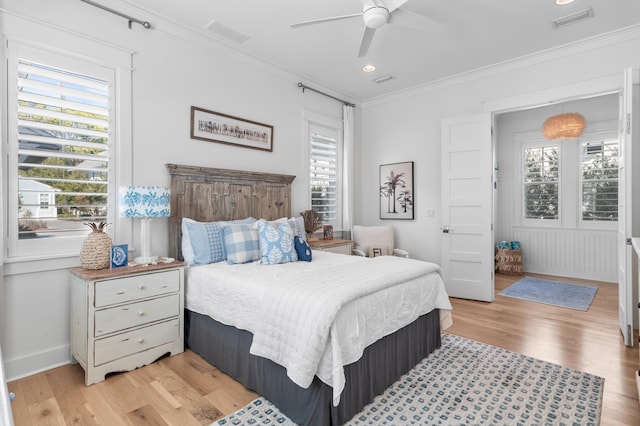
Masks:
[[[273,126],[191,107],[191,139],[273,151]]]

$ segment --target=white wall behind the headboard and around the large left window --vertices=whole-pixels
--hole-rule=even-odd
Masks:
[[[52,32],[63,30],[70,39],[79,35],[133,52],[131,183],[167,186],[166,163],[290,174],[297,176],[292,212],[306,210],[304,112],[341,120],[342,105],[302,93],[299,78],[288,72],[214,46],[171,23],[152,20],[152,24],[151,30],[137,24],[128,29],[125,19],[77,0],[0,0],[4,37],[48,47]],[[73,43],[57,47],[74,50]],[[190,139],[192,105],[273,125],[273,152]],[[133,228],[131,241],[137,244],[138,226],[117,225]],[[153,226],[153,251],[166,254],[168,221],[155,220]],[[66,268],[78,265],[78,257],[5,259],[0,343],[10,380],[69,362]]]

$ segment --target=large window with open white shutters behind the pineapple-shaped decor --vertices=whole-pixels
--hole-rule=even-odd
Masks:
[[[9,52],[8,255],[77,253],[86,222],[112,222],[115,72],[17,43]]]

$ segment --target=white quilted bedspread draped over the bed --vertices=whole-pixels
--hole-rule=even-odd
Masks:
[[[367,346],[436,308],[442,327],[451,324],[440,268],[413,259],[317,251],[312,262],[190,267],[186,283],[188,309],[250,331],[251,353],[299,386],[317,375],[335,405],[343,367]]]

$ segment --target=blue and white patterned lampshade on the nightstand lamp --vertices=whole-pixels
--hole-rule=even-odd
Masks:
[[[161,186],[125,186],[120,188],[120,216],[169,217],[169,188]]]

